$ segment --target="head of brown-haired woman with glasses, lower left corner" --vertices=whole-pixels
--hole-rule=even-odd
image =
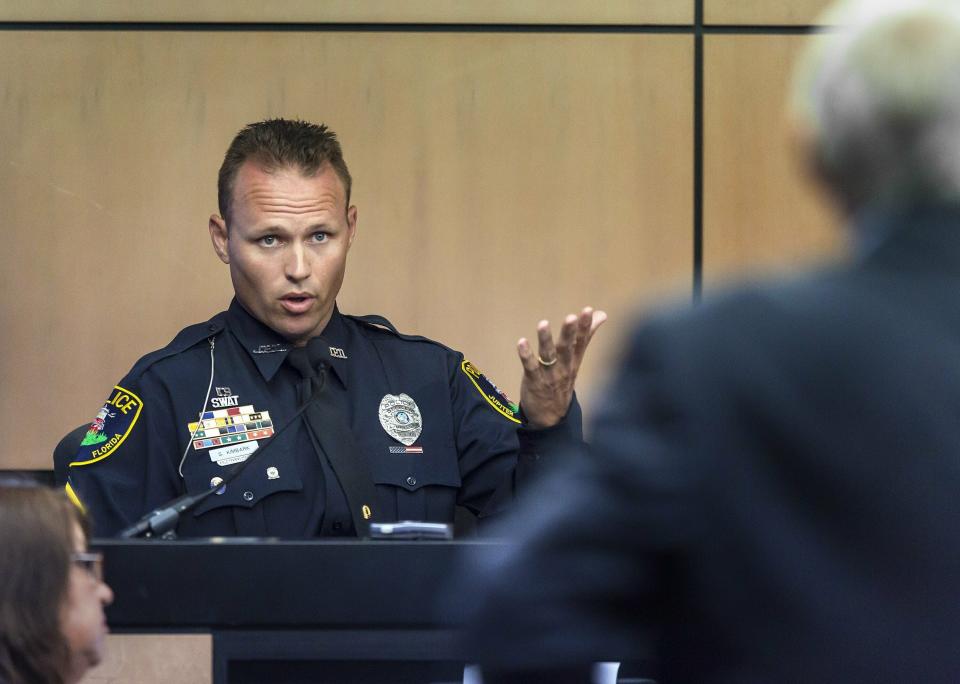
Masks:
[[[65,496],[0,483],[0,681],[69,684],[101,658],[113,600]]]

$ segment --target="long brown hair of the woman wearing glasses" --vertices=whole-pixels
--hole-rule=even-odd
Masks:
[[[60,613],[80,510],[58,491],[0,483],[0,682],[62,684],[69,650]]]

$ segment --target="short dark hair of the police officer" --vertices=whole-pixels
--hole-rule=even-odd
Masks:
[[[325,125],[299,119],[267,119],[245,126],[227,149],[217,177],[217,201],[220,215],[227,214],[233,200],[237,172],[246,161],[254,161],[267,171],[294,167],[304,176],[313,176],[326,164],[340,177],[350,204],[350,171],[343,160],[337,134]]]

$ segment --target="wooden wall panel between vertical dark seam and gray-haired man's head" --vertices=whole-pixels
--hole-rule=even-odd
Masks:
[[[837,254],[838,217],[800,163],[786,108],[797,36],[709,36],[704,67],[704,279]]]

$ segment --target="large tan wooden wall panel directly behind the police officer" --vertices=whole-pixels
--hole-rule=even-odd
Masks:
[[[244,123],[325,121],[355,177],[341,307],[463,349],[689,292],[692,40],[668,35],[4,33],[0,467],[46,467],[143,353],[229,301],[209,245]],[[202,400],[202,397],[198,397]]]

